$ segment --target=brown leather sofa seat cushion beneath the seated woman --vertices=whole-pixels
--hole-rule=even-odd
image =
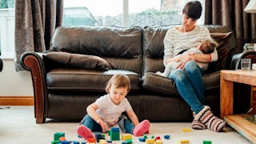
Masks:
[[[213,90],[219,88],[220,74],[214,72],[203,75],[206,90]],[[162,77],[158,74],[148,72],[142,77],[142,86],[146,90],[158,92],[161,94],[179,95],[174,81],[170,78]]]

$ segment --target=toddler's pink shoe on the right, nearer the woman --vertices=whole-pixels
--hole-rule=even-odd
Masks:
[[[134,127],[133,134],[138,137],[150,130],[150,121],[144,120]]]

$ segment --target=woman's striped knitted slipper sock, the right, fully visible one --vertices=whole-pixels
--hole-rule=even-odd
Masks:
[[[222,131],[226,122],[222,119],[217,118],[214,114],[210,111],[209,106],[205,106],[194,118],[195,120],[202,122],[209,130],[212,131]]]

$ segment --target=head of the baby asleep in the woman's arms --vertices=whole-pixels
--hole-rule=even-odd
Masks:
[[[199,46],[198,49],[202,51],[203,54],[210,54],[214,52],[214,49],[218,46],[217,42],[213,40],[205,40]]]

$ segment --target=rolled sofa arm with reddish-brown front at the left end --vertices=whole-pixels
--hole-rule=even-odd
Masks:
[[[42,59],[42,53],[26,52],[21,56],[21,65],[29,70],[34,90],[34,116],[37,123],[45,122],[46,105],[46,70]]]

